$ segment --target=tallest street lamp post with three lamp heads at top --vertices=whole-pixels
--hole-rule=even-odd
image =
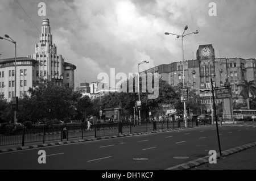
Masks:
[[[186,35],[184,35],[184,32],[188,30],[188,26],[185,26],[184,28],[184,31],[182,33],[182,35],[176,35],[174,33],[169,33],[169,32],[165,32],[164,34],[165,35],[175,35],[177,36],[177,39],[179,37],[181,37],[181,40],[182,40],[182,74],[183,74],[183,89],[185,88],[185,74],[184,74],[184,48],[183,48],[183,37],[184,36],[187,36],[187,35],[191,35],[191,34],[197,34],[199,33],[197,30],[195,32],[192,32],[192,33],[188,33]],[[185,128],[187,128],[187,116],[186,116],[186,103],[184,102],[184,121],[185,121]]]

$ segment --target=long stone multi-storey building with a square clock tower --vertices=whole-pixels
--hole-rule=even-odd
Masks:
[[[256,60],[254,58],[216,58],[212,45],[200,45],[197,49],[196,60],[184,60],[184,82],[189,87],[194,87],[198,91],[202,104],[210,108],[213,103],[210,95],[205,91],[211,91],[212,79],[214,87],[224,86],[226,78],[232,86],[232,102],[246,103],[246,100],[239,96],[243,80],[256,81]],[[171,64],[163,64],[144,71],[145,73],[158,72],[160,77],[168,81],[170,85],[183,83],[183,62],[177,61]],[[204,91],[200,91],[204,90]],[[217,99],[216,103],[221,103]]]

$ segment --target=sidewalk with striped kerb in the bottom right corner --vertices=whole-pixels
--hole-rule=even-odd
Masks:
[[[209,156],[166,170],[256,170],[256,142],[217,153],[217,163],[209,163]]]

